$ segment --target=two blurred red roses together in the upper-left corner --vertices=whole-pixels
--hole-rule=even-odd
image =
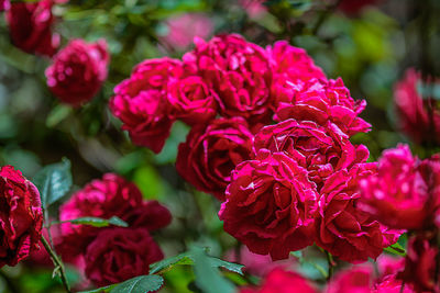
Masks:
[[[61,102],[78,106],[96,95],[107,78],[109,53],[105,40],[88,44],[72,40],[63,49],[61,35],[53,32],[54,4],[66,0],[33,2],[0,1],[6,11],[13,45],[29,53],[53,58],[46,69],[47,87]]]

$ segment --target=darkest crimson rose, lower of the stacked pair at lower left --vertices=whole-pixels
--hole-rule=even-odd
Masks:
[[[97,286],[110,285],[148,274],[150,264],[163,258],[147,229],[103,229],[87,247],[86,275]]]

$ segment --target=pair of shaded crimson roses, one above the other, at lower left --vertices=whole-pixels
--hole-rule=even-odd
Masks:
[[[68,223],[88,216],[118,216],[129,227],[97,228]],[[59,219],[66,223],[61,225],[54,241],[63,259],[77,264],[90,281],[103,286],[148,273],[150,263],[164,257],[151,233],[168,225],[172,216],[158,202],[143,201],[133,183],[107,173],[63,204]]]

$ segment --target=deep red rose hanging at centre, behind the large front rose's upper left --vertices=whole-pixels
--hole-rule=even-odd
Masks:
[[[196,125],[178,147],[177,172],[196,189],[224,201],[231,171],[251,158],[253,135],[242,117]]]

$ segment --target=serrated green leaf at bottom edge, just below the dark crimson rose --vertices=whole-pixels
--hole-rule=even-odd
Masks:
[[[140,275],[119,283],[110,293],[146,293],[160,290],[163,284],[164,279],[161,275]]]

